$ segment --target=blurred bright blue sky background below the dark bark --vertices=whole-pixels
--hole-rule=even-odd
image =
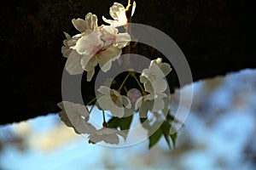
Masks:
[[[70,129],[60,127],[62,122],[58,116],[50,114],[28,121],[29,129],[32,129],[28,132],[22,131],[19,124],[0,127],[1,141],[7,139],[6,132],[11,131],[16,135],[26,132],[25,142],[28,146],[25,150],[19,150],[14,144],[5,144],[0,152],[0,167],[4,170],[79,170],[92,167],[254,169],[255,162],[253,165],[253,161],[247,159],[245,148],[250,141],[256,141],[255,80],[256,71],[246,70],[217,78],[218,86],[210,86],[210,90],[208,82],[194,83],[195,102],[185,126],[178,132],[175,150],[168,150],[164,139],[152,150],[148,150],[147,140],[129,147],[109,148],[88,144],[84,137],[73,132],[65,141],[59,141],[60,134],[65,134],[65,131],[70,133]],[[200,105],[202,109],[198,109]],[[53,134],[49,138],[50,132]],[[58,144],[47,151],[32,144],[46,138],[49,138],[46,141],[58,141]]]

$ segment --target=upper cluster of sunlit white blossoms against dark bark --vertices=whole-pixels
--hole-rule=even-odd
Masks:
[[[134,3],[135,4],[135,3]],[[87,72],[87,81],[90,82],[95,73],[96,65],[100,65],[102,71],[111,68],[112,61],[119,59],[122,48],[131,42],[131,36],[127,32],[120,33],[118,26],[127,23],[125,8],[120,3],[113,3],[109,14],[113,20],[102,19],[110,26],[98,26],[95,14],[86,14],[85,19],[73,19],[73,26],[80,32],[63,41],[61,52],[67,58],[66,70],[71,75]]]

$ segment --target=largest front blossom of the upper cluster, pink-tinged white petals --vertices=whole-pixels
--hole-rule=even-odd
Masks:
[[[108,45],[104,47],[104,42],[100,38],[99,32],[94,31],[89,35],[81,37],[74,46],[66,64],[67,71],[72,74],[80,74],[87,71],[87,81],[90,82],[95,73],[95,67],[100,65],[102,71],[106,72],[111,68],[112,61],[119,59],[122,49]]]

